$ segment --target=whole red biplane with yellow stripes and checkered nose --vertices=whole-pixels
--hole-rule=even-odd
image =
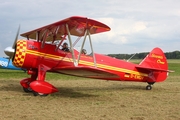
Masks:
[[[154,48],[140,64],[94,53],[91,35],[106,31],[110,31],[110,27],[101,22],[73,16],[21,34],[27,40],[17,39],[18,30],[13,46],[4,52],[16,67],[26,69],[31,75],[21,80],[20,84],[25,92],[33,92],[34,95],[48,95],[58,91],[45,81],[46,72],[114,81],[147,82],[147,90],[151,90],[155,82],[167,78],[170,71],[160,48]],[[80,50],[77,50],[74,45],[80,38],[83,39]],[[70,45],[67,51],[61,49],[65,40]],[[87,40],[91,54],[81,52]]]

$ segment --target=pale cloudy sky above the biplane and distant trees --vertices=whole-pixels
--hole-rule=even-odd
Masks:
[[[180,50],[179,6],[180,0],[0,0],[0,56],[6,56],[4,49],[12,46],[19,25],[24,33],[71,16],[111,28],[92,35],[100,54]]]

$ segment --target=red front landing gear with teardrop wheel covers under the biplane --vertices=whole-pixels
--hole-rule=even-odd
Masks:
[[[58,92],[52,84],[45,81],[46,71],[50,68],[40,64],[38,69],[29,70],[31,78],[20,81],[24,92],[32,92],[34,96],[47,96],[48,94]]]

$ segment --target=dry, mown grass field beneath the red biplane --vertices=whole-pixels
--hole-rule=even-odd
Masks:
[[[48,73],[59,92],[47,97],[23,92],[23,71],[0,69],[0,120],[180,120],[180,60],[168,63],[176,72],[150,91],[147,83]]]

